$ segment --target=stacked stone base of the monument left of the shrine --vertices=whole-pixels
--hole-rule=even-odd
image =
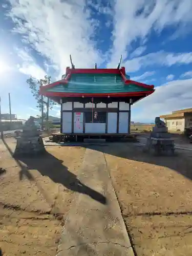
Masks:
[[[15,147],[15,156],[37,155],[45,152],[44,142],[40,136],[19,137]]]

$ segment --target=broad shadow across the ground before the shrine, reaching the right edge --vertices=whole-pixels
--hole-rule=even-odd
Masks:
[[[119,145],[109,144],[109,146],[86,145],[86,148],[91,148],[100,151],[104,154],[130,159],[138,162],[145,162],[159,166],[165,166],[176,170],[179,174],[192,180],[192,153],[190,151],[176,151],[175,156],[153,156],[150,153],[144,153],[141,146],[129,146],[129,144],[121,143]]]

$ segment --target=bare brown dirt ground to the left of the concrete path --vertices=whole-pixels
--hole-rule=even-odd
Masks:
[[[85,149],[49,146],[39,159],[14,159],[15,140],[5,142],[0,141],[3,255],[56,255],[65,217],[78,191],[76,174]]]

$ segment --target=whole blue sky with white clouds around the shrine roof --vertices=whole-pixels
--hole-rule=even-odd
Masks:
[[[26,79],[57,80],[70,66],[122,66],[156,92],[136,103],[132,121],[192,107],[191,0],[3,0],[0,7],[2,113],[37,115]],[[50,113],[59,116],[59,106]]]

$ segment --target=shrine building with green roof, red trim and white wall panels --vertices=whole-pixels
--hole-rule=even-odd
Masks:
[[[154,92],[153,85],[130,80],[125,68],[67,67],[61,80],[39,93],[61,105],[60,133],[103,137],[130,134],[131,106]]]

